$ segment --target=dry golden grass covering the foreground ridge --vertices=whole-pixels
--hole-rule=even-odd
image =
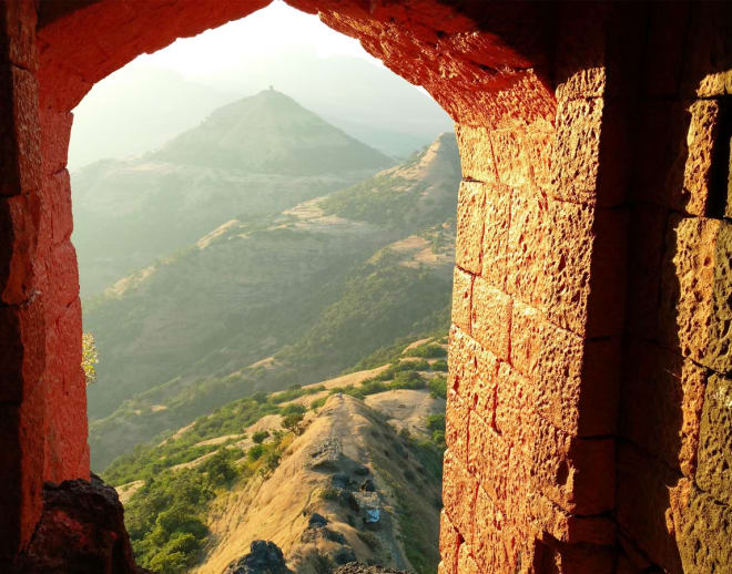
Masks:
[[[292,570],[299,574],[317,574],[315,555],[333,555],[343,544],[308,530],[314,512],[328,520],[327,529],[343,534],[358,560],[410,568],[398,540],[400,519],[395,486],[424,501],[418,508],[419,515],[413,520],[426,525],[429,540],[436,542],[439,510],[434,502],[439,500],[440,484],[428,478],[408,453],[404,440],[385,421],[407,409],[413,414],[418,412],[424,424],[427,414],[444,412],[445,403],[430,398],[427,391],[404,391],[396,399],[393,392],[383,394],[393,397],[373,396],[369,402],[384,408],[387,411],[384,414],[358,399],[331,397],[307,421],[307,429],[293,442],[272,475],[248,481],[217,500],[210,513],[212,542],[204,562],[192,572],[220,574],[230,562],[248,552],[253,540],[264,539],[283,550]],[[416,418],[413,420],[416,423]],[[327,470],[313,468],[313,452],[323,441],[333,438],[338,439],[342,455]],[[358,480],[357,484],[363,482],[365,478],[354,472],[362,464],[369,469],[382,508],[376,530],[366,529],[363,512],[354,512],[322,496],[336,473]],[[410,480],[405,478],[406,471],[410,471]],[[358,491],[358,485],[354,488]],[[372,536],[378,542],[374,543]]]

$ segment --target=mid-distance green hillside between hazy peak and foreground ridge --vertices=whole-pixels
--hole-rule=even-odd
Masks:
[[[445,327],[458,181],[455,139],[441,136],[338,192],[346,206],[369,182],[374,195],[410,197],[388,222],[344,217],[327,197],[232,219],[85,301],[101,357],[93,467],[243,394],[334,376]]]

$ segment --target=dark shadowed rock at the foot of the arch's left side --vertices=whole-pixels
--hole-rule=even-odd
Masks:
[[[22,574],[142,574],[132,557],[124,511],[116,491],[93,475],[47,483],[43,514],[27,553]]]

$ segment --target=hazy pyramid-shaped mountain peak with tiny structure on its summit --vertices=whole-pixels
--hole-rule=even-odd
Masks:
[[[179,164],[292,175],[374,171],[393,163],[274,89],[218,107],[152,156]]]

